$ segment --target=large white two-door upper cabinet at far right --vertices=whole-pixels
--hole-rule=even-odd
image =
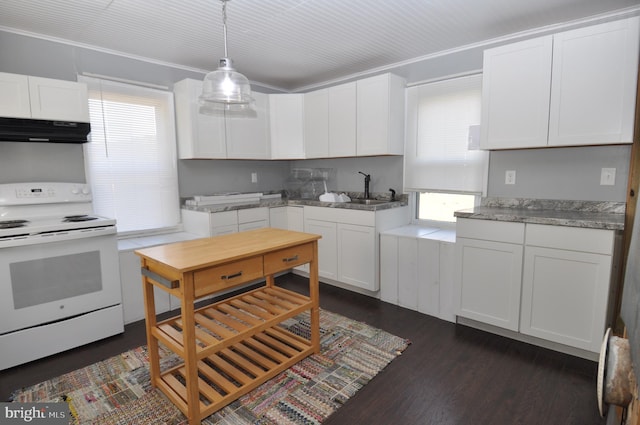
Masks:
[[[640,18],[484,54],[482,149],[631,143]]]

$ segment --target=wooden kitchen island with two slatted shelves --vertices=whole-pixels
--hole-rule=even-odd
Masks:
[[[135,251],[140,256],[151,383],[200,421],[320,350],[320,236],[258,229]],[[309,296],[274,285],[274,274],[309,263]],[[197,299],[266,278],[263,286],[196,309]],[[157,321],[154,289],[180,299]],[[310,312],[310,339],[279,323]],[[160,370],[158,344],[184,361]]]

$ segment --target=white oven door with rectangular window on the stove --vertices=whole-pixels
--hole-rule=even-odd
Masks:
[[[121,303],[115,227],[0,247],[0,334]]]

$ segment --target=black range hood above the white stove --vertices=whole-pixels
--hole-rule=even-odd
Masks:
[[[87,143],[91,124],[28,118],[0,118],[0,142]]]

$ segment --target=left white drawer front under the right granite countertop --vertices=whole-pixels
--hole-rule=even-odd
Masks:
[[[456,236],[521,244],[524,243],[524,223],[458,218]]]

